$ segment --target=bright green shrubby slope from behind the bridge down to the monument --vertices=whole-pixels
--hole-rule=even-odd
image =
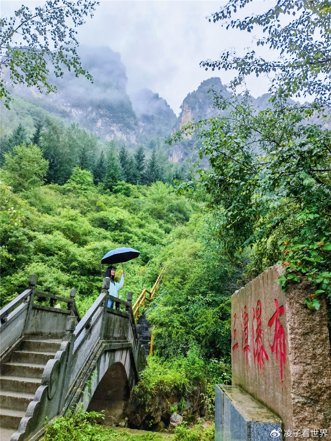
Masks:
[[[34,273],[41,291],[68,297],[77,288],[84,314],[100,293],[102,256],[120,246],[140,250],[139,258],[124,264],[122,298],[132,291],[135,300],[163,267],[164,273],[148,313],[155,325],[155,356],[135,399],[145,411],[150,396],[165,388],[166,396],[192,397],[204,415],[212,413],[214,382],[230,378],[230,296],[244,283],[249,254],[229,263],[199,192],[179,196],[160,181],[148,186],[118,181],[110,191],[80,167],[67,180],[63,176],[63,183],[44,185],[49,164],[36,144],[23,142],[4,154],[1,306]],[[117,265],[116,277],[121,270]]]

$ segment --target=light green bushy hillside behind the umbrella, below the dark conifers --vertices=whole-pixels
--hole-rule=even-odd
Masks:
[[[120,296],[125,298],[126,292],[132,291],[135,299],[143,288],[151,288],[155,280],[146,280],[148,265],[166,246],[165,229],[185,220],[175,211],[174,224],[165,223],[153,213],[144,187],[122,184],[123,191],[109,194],[93,184],[90,172],[79,168],[64,186],[32,188],[24,192],[25,200],[4,182],[1,184],[2,305],[22,292],[29,274],[35,273],[42,291],[68,296],[70,288],[77,288],[76,301],[83,314],[100,293],[105,273],[102,256],[120,246],[141,250],[138,259],[125,263],[127,277]],[[160,183],[160,192],[164,185]],[[169,196],[185,200],[173,192]],[[189,213],[196,209],[194,203],[185,204]],[[145,211],[146,206],[150,212]],[[145,266],[147,277],[142,286],[143,280],[137,274]],[[116,278],[120,272],[119,266]]]

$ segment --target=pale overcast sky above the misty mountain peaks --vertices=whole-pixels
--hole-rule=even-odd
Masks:
[[[43,1],[1,1],[1,16],[9,15],[22,4],[33,8]],[[233,72],[205,71],[199,62],[217,60],[223,49],[255,47],[253,35],[226,30],[220,23],[205,18],[219,10],[226,1],[106,1],[92,19],[78,28],[78,40],[89,46],[107,45],[119,52],[126,67],[128,94],[144,87],[166,99],[178,115],[186,95],[200,82],[219,76],[223,83]],[[262,12],[275,1],[255,0],[244,9]],[[79,52],[79,51],[78,51]],[[266,56],[267,52],[260,54]],[[252,76],[247,86],[253,96],[267,92],[267,80]]]

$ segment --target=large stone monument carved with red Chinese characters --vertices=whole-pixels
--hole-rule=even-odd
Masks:
[[[232,384],[284,422],[285,430],[331,426],[331,363],[325,300],[317,312],[304,299],[315,288],[304,278],[286,292],[269,268],[232,296]],[[312,417],[313,415],[313,417]]]

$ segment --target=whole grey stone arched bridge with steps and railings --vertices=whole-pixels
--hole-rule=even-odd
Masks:
[[[146,363],[132,293],[126,301],[115,298],[104,279],[80,318],[75,289],[62,298],[37,291],[36,281],[31,275],[29,287],[0,311],[1,441],[37,440],[45,417],[76,404],[113,415]],[[107,308],[108,299],[115,309]]]

